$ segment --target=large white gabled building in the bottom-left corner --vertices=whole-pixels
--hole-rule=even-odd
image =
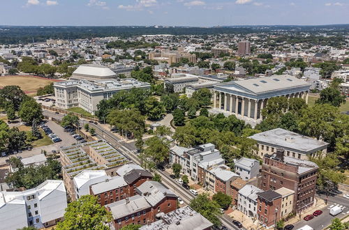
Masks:
[[[0,229],[50,227],[67,207],[63,181],[47,180],[31,190],[0,193]]]

